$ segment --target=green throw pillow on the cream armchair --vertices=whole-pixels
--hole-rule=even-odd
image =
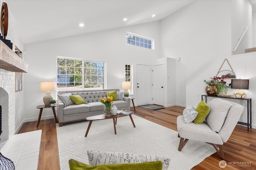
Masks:
[[[196,107],[196,111],[198,112],[198,114],[193,122],[195,124],[201,124],[210,113],[210,107],[206,104],[206,102],[201,101]]]

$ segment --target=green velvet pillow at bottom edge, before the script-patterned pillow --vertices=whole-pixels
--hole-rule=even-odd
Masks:
[[[90,166],[70,159],[68,163],[70,170],[162,170],[162,162],[160,160],[154,162]]]

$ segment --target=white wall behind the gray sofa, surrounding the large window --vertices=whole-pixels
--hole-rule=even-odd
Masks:
[[[107,88],[121,89],[125,80],[125,64],[133,64],[136,75],[136,64],[149,64],[160,55],[160,22],[152,22],[117,29],[110,29],[90,34],[53,39],[38,43],[26,44],[28,73],[24,74],[24,119],[37,120],[39,109],[43,104],[44,92],[40,92],[41,81],[57,81],[56,56],[73,57],[106,61]],[[154,50],[126,44],[126,31],[150,37],[155,41]],[[134,77],[136,80],[136,77]],[[122,90],[123,91],[123,90]],[[56,99],[56,92],[52,92]],[[136,88],[134,88],[136,98]],[[134,100],[136,104],[136,99]],[[44,109],[42,119],[51,116],[51,109]],[[45,117],[49,118],[49,117]]]

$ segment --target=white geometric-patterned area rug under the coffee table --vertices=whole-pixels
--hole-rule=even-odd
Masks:
[[[178,151],[178,132],[132,115],[117,119],[116,135],[113,119],[93,121],[87,137],[84,137],[89,121],[57,126],[60,169],[69,170],[68,160],[73,158],[89,164],[87,150],[128,152],[134,154],[166,156],[170,158],[170,170],[189,170],[216,152],[211,145],[189,140]]]

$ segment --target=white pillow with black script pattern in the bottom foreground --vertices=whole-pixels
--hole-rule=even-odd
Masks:
[[[89,165],[105,165],[105,164],[123,164],[123,163],[140,163],[140,162],[152,162],[161,160],[163,167],[162,170],[167,170],[170,162],[170,158],[158,157],[158,156],[146,156],[139,154],[130,154],[122,152],[106,152],[97,150],[87,150]]]

